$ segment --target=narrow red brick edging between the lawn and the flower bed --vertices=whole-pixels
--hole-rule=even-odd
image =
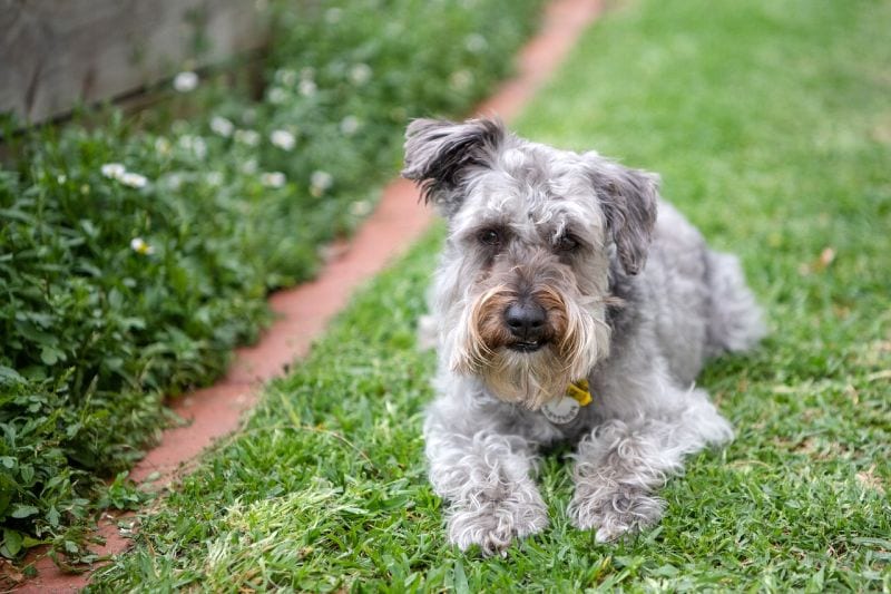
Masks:
[[[517,116],[599,11],[600,0],[551,0],[541,30],[519,55],[518,76],[476,111],[505,120]],[[236,430],[242,415],[256,402],[263,383],[284,374],[285,366],[305,357],[312,341],[344,308],[353,291],[402,254],[431,220],[429,210],[418,204],[412,184],[398,179],[388,185],[375,212],[344,253],[330,262],[315,281],[270,298],[277,321],[257,344],[236,351],[226,377],[173,403],[189,425],[165,431],[158,447],[146,455],[130,477],[139,483],[156,473],[154,485],[167,485],[215,439]],[[120,519],[100,523],[99,533],[106,544],[97,547],[97,554],[114,555],[127,549],[130,541],[119,534]],[[46,555],[37,558],[36,567],[38,576],[21,584],[18,592],[71,592],[89,581],[89,573],[60,572]]]

